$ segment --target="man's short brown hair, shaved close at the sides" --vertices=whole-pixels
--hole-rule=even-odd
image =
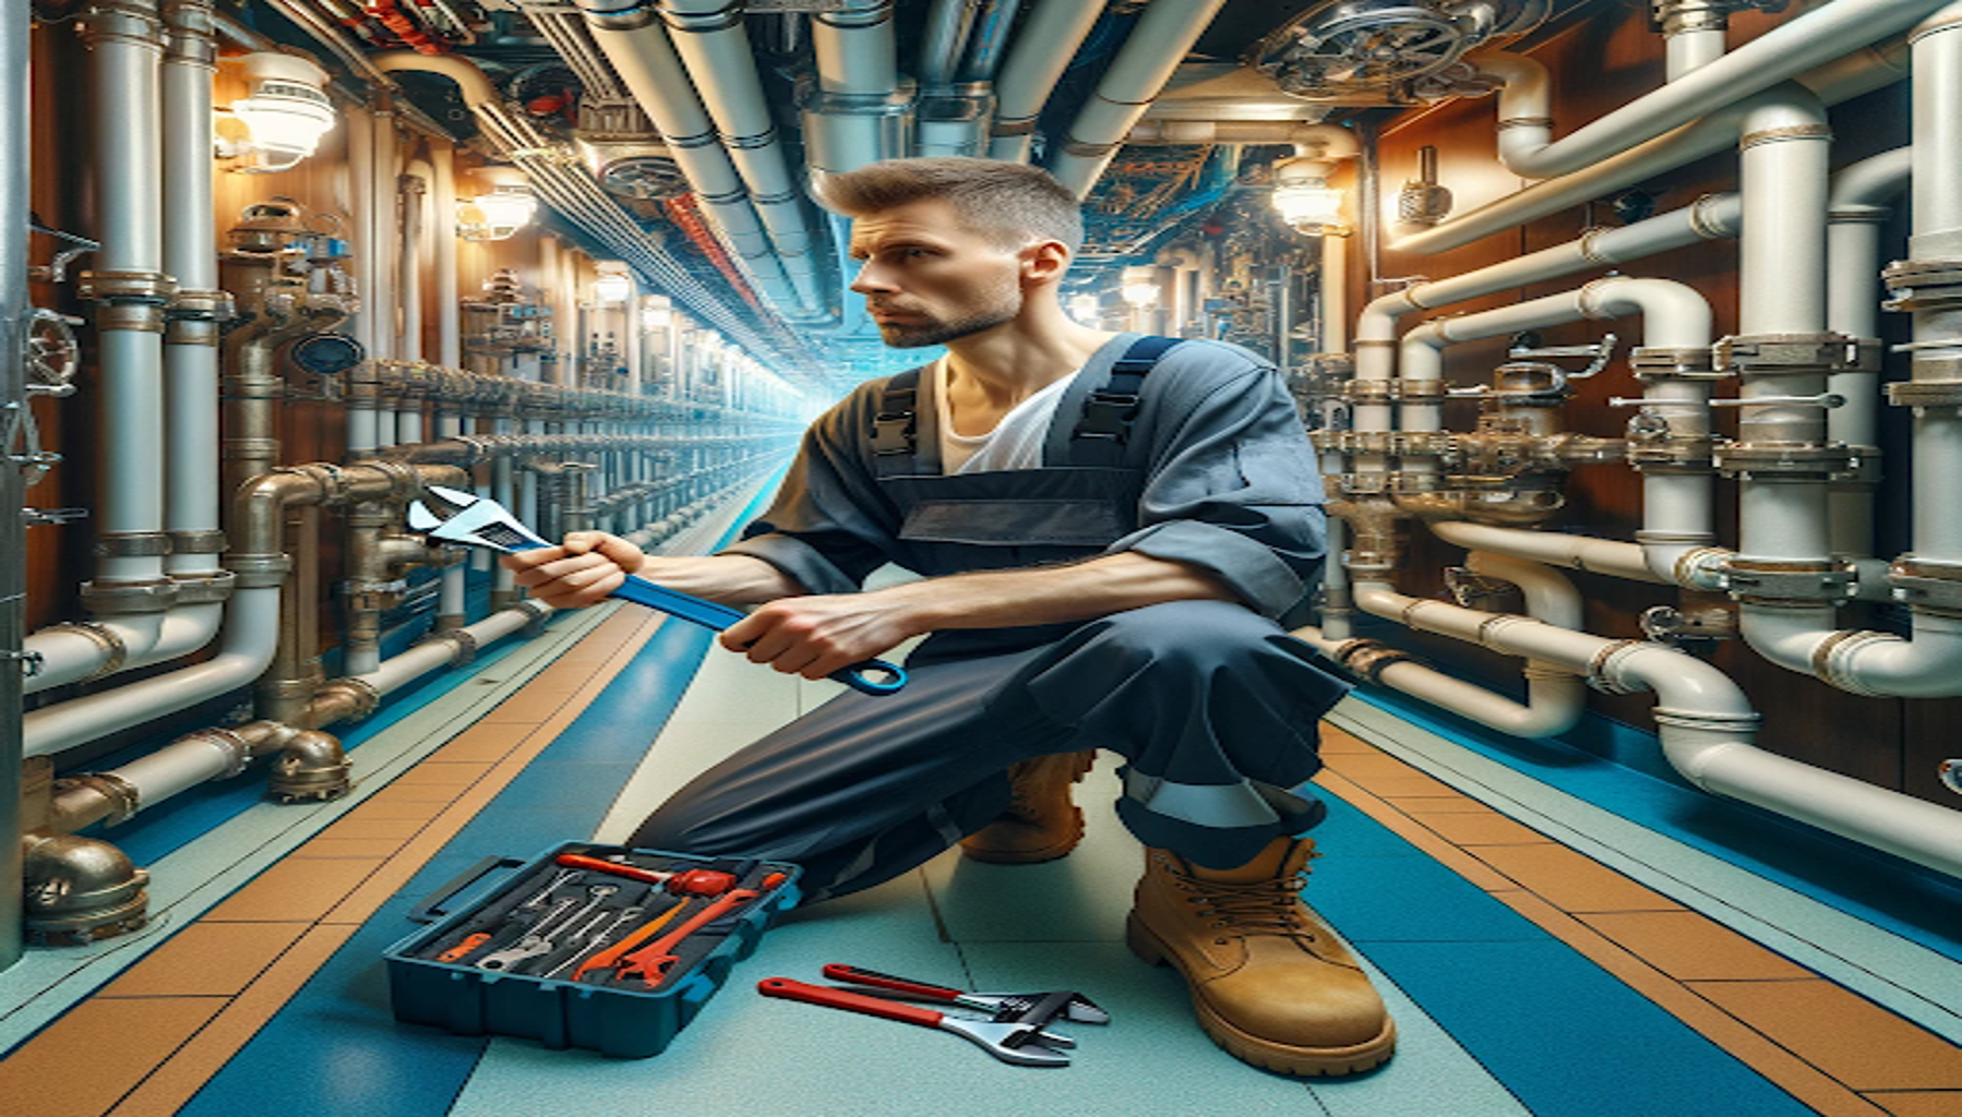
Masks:
[[[1083,247],[1077,196],[1048,170],[1024,163],[963,155],[887,159],[824,174],[814,186],[818,204],[846,218],[944,198],[997,247],[1018,249],[1030,239],[1061,241],[1069,255]]]

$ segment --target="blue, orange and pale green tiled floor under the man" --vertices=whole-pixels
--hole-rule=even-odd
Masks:
[[[704,658],[704,647],[683,627],[616,611],[243,888],[202,911],[173,909],[175,925],[149,935],[153,948],[133,964],[112,966],[108,952],[63,970],[35,956],[24,966],[49,990],[82,982],[90,966],[104,976],[0,1060],[0,1099],[31,1099],[22,1113],[33,1117],[232,1117],[267,1105],[402,1117],[995,1117],[1005,1099],[1061,1115],[1962,1113],[1962,1048],[1936,1031],[1944,997],[1895,992],[1954,988],[1962,966],[1864,923],[1852,947],[1836,945],[1844,913],[1809,899],[1746,903],[1748,890],[1711,876],[1730,866],[1701,854],[1628,852],[1668,839],[1574,841],[1552,792],[1495,794],[1507,774],[1477,782],[1458,758],[1424,760],[1419,753],[1448,745],[1419,749],[1430,739],[1352,704],[1332,721],[1354,733],[1324,731],[1330,821],[1309,898],[1358,947],[1397,1015],[1401,1050],[1375,1074],[1299,1082],[1250,1070],[1197,1031],[1175,974],[1124,950],[1138,850],[1110,809],[1109,756],[1079,788],[1091,835],[1069,858],[1005,868],[950,854],[793,913],[659,1058],[388,1019],[379,954],[434,884],[485,854],[616,839],[728,749],[832,690],[738,656]],[[1597,835],[1613,821],[1574,817],[1599,823],[1589,823]],[[1713,909],[1713,892],[1752,919]],[[1805,903],[1823,913],[1803,915]],[[1774,909],[1803,919],[1780,917],[1785,931]],[[1805,945],[1760,943],[1780,935]],[[1862,976],[1836,972],[1842,958],[1862,960]],[[1889,972],[1891,958],[1907,970]],[[969,988],[1083,988],[1114,1023],[1069,1027],[1075,1064],[1030,1072],[954,1037],[748,992],[769,974],[816,980],[834,960]],[[0,996],[29,980],[10,978]]]

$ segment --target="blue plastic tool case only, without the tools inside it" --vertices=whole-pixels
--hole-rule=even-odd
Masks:
[[[575,870],[575,876],[561,876],[567,870],[559,864],[559,854],[618,858],[630,866],[665,872],[734,870],[738,874],[734,888],[761,894],[681,941],[671,950],[675,960],[653,988],[645,988],[642,980],[610,978],[608,972],[593,972],[585,980],[573,980],[577,966],[565,966],[563,958],[577,960],[577,954],[563,950],[559,958],[540,958],[536,966],[487,968],[487,958],[498,950],[512,950],[526,929],[538,927],[542,917],[565,899],[573,901],[559,915],[565,933],[573,935],[581,927],[594,927],[587,945],[598,950],[630,935],[636,919],[645,923],[661,915],[673,901],[687,901],[687,905],[675,913],[661,935],[681,929],[691,917],[732,892],[675,896],[659,884],[596,870]],[[453,911],[441,909],[487,874],[512,868],[516,872],[498,886]],[[430,921],[430,927],[385,952],[394,1015],[408,1023],[436,1025],[457,1035],[514,1035],[542,1041],[553,1048],[583,1046],[622,1058],[659,1054],[722,988],[730,968],[755,950],[763,931],[797,903],[797,866],[781,862],[714,862],[593,843],[565,843],[530,862],[487,858],[410,913],[410,919]],[[769,888],[763,888],[765,882]],[[608,907],[602,901],[591,913],[581,915],[577,909],[591,901],[594,886],[614,886],[616,892],[608,894],[606,899],[618,898],[618,903]],[[538,903],[532,909],[520,909],[518,905],[528,899]],[[642,905],[640,915],[616,915],[612,923],[604,919],[608,909],[618,913],[634,903]],[[571,919],[571,915],[579,915],[579,919]],[[608,929],[612,933],[604,935],[602,931]],[[649,941],[657,939],[659,935],[649,937]],[[557,976],[522,972],[543,964],[561,968]]]

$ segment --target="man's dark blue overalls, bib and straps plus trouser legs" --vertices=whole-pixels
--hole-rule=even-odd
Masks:
[[[1175,343],[1118,343],[1122,357],[1077,376],[1034,470],[940,476],[932,382],[918,370],[891,378],[863,429],[867,480],[897,523],[891,560],[926,576],[1034,566],[1093,558],[1138,531],[1146,464],[1130,427],[1146,376]],[[1315,488],[1303,504],[1318,500]],[[1203,866],[1244,864],[1324,813],[1305,784],[1320,768],[1318,719],[1346,684],[1246,606],[1169,602],[1081,623],[942,631],[906,670],[895,696],[840,694],[738,751],[655,809],[632,845],[791,860],[822,899],[991,823],[1008,805],[1008,764],[1081,749],[1124,756],[1118,817],[1142,843]]]

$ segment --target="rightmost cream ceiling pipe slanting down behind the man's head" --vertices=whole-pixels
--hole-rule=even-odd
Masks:
[[[1152,98],[1205,33],[1226,0],[1154,0],[1138,16],[1097,92],[1050,157],[1050,172],[1087,198]]]

